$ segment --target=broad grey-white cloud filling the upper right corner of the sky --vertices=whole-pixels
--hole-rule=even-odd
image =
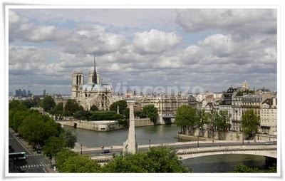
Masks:
[[[218,30],[242,35],[276,33],[276,9],[178,9],[185,31]]]

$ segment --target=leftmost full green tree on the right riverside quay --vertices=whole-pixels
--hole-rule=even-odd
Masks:
[[[190,128],[192,135],[194,133],[195,125],[197,124],[196,109],[189,105],[182,105],[177,109],[175,116],[175,125],[181,127],[182,134],[185,134],[185,128]]]

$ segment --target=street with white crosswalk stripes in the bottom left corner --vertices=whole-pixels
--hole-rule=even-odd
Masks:
[[[9,172],[46,172],[49,160],[41,153],[28,149],[21,139],[9,130],[9,145],[12,152],[26,152],[26,160],[9,161]]]

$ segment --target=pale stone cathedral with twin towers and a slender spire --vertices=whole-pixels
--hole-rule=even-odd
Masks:
[[[87,83],[84,83],[83,73],[73,72],[71,97],[85,110],[90,110],[92,105],[99,110],[108,110],[113,103],[112,95],[112,86],[102,83],[100,73],[96,72],[95,56],[94,71],[89,73]]]

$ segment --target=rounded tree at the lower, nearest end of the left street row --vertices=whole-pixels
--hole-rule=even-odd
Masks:
[[[66,141],[63,138],[52,136],[48,138],[45,145],[43,146],[43,153],[48,157],[56,156],[56,153],[66,148]]]

